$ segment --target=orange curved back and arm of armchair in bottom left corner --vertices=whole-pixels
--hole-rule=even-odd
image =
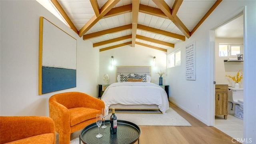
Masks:
[[[54,121],[46,116],[0,116],[0,143],[53,133]],[[55,139],[54,139],[55,142]]]

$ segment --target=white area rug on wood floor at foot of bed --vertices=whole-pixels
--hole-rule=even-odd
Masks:
[[[111,113],[106,120],[109,120]],[[191,124],[175,112],[172,108],[166,114],[147,114],[147,113],[116,113],[118,120],[126,120],[138,126],[191,126]]]

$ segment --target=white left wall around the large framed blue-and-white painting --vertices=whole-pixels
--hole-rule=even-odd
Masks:
[[[48,116],[53,94],[80,91],[97,97],[99,52],[38,2],[1,3],[0,115]],[[39,17],[56,24],[77,39],[76,88],[38,95]]]

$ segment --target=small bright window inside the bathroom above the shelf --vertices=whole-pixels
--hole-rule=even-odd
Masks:
[[[219,44],[219,56],[236,57],[243,54],[242,44]]]

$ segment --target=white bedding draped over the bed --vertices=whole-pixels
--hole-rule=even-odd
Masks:
[[[111,104],[156,104],[165,114],[169,108],[167,94],[160,86],[149,82],[116,82],[108,86],[101,99],[105,108]]]

